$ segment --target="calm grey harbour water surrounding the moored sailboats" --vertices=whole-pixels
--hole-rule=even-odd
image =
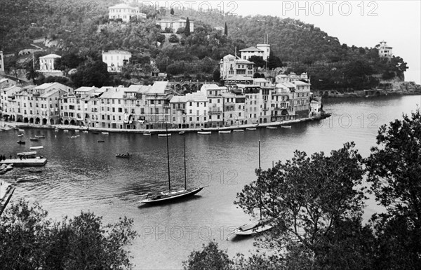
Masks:
[[[25,130],[26,145],[16,144],[18,131],[0,132],[0,153],[15,154],[44,145],[39,154],[48,157],[39,180],[16,185],[12,198],[38,201],[51,217],[73,217],[91,210],[114,223],[126,215],[133,218],[140,237],[129,248],[135,269],[180,269],[193,249],[215,239],[230,255],[248,254],[253,239],[226,241],[233,227],[248,222],[248,216],[233,201],[244,184],[255,179],[258,141],[261,141],[262,168],[272,161],[285,161],[299,149],[330,152],[354,141],[366,157],[375,145],[377,129],[389,121],[410,114],[421,104],[421,96],[376,99],[326,100],[330,119],[294,125],[290,129],[247,130],[243,133],[186,134],[187,178],[191,186],[209,185],[187,201],[155,207],[140,206],[140,195],[168,188],[166,138],[139,134],[55,133],[53,130]],[[39,142],[29,137],[45,135]],[[80,137],[70,138],[72,135]],[[98,140],[104,139],[104,143]],[[169,138],[171,184],[183,187],[183,137]],[[132,154],[130,159],[116,153]],[[16,168],[1,178],[25,175]],[[369,200],[365,218],[379,210]]]

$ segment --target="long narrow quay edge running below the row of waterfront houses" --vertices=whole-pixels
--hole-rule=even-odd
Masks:
[[[314,116],[311,118],[295,119],[281,122],[270,122],[270,123],[259,123],[259,124],[247,124],[247,125],[238,125],[238,126],[229,126],[223,128],[168,128],[168,133],[197,133],[199,131],[222,131],[222,130],[239,130],[246,128],[266,128],[269,126],[291,126],[295,123],[302,123],[308,121],[318,121],[330,117],[330,114],[325,113],[320,116]],[[16,123],[16,122],[4,122],[5,126],[9,126],[10,130],[14,128],[39,128],[39,129],[55,129],[59,130],[89,130],[89,131],[98,131],[98,132],[111,132],[111,133],[150,133],[152,134],[163,134],[167,133],[165,129],[116,129],[116,128],[86,128],[85,126],[70,126],[70,125],[36,125],[29,123]]]

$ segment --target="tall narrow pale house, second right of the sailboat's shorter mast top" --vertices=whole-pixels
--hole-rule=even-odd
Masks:
[[[208,126],[210,128],[223,126],[224,98],[222,93],[226,93],[227,88],[211,83],[203,84],[200,91],[208,99]]]

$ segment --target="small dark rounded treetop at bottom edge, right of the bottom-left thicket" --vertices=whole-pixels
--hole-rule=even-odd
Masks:
[[[229,270],[232,261],[226,250],[220,250],[218,243],[213,241],[202,246],[201,251],[193,250],[187,261],[182,262],[185,270]]]

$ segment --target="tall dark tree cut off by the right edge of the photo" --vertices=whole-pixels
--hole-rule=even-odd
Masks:
[[[421,113],[403,115],[380,127],[379,147],[366,159],[368,181],[386,212],[375,215],[378,264],[384,269],[421,265]]]

